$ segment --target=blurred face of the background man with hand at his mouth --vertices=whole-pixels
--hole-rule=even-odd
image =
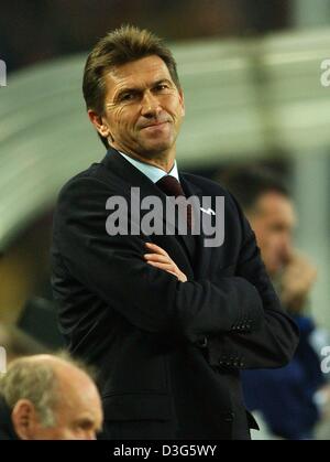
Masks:
[[[283,269],[292,254],[295,213],[292,202],[276,192],[263,194],[249,215],[256,243],[270,275]]]

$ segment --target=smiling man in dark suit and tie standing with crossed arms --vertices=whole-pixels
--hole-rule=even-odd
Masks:
[[[53,287],[70,352],[99,370],[103,438],[249,439],[255,422],[240,370],[286,364],[298,335],[234,198],[177,171],[185,107],[175,61],[150,32],[121,28],[89,54],[84,96],[108,152],[59,194]],[[177,226],[148,234],[130,207],[133,187],[141,203],[210,203],[195,207],[193,221],[187,207],[186,235]],[[220,196],[224,241],[208,247],[205,229],[191,228],[205,217],[220,226]],[[117,211],[119,228],[129,233],[113,232],[113,216],[109,226],[109,204],[119,198],[128,204]],[[140,213],[143,221],[150,212]]]

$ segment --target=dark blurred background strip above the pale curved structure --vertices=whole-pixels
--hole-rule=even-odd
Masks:
[[[13,0],[3,2],[0,56],[9,72],[85,52],[107,31],[139,24],[170,41],[262,34],[293,24],[287,0]]]

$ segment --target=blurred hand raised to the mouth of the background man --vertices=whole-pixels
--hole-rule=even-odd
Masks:
[[[299,311],[316,280],[317,269],[307,257],[295,251],[282,277],[282,301],[287,308]]]

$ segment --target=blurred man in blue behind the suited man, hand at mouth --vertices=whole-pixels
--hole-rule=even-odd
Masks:
[[[296,222],[293,201],[275,173],[258,165],[228,170],[221,182],[250,219],[267,271],[284,307],[300,329],[300,342],[290,364],[280,369],[243,373],[246,406],[262,412],[275,436],[311,439],[320,419],[316,396],[326,380],[311,342],[316,326],[304,314],[316,268],[293,248]]]

